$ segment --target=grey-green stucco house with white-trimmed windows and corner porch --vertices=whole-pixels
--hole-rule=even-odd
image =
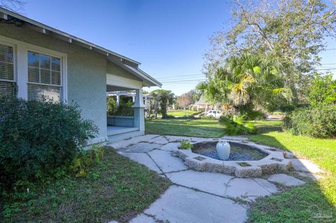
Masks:
[[[90,143],[144,134],[142,87],[161,83],[139,69],[140,63],[63,31],[0,8],[0,94],[27,100],[48,96],[74,101],[99,134]],[[106,92],[135,91],[134,117],[109,125]],[[113,124],[113,123],[112,123]]]

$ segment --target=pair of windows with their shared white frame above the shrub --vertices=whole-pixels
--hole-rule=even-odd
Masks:
[[[67,100],[66,54],[0,36],[0,97]]]

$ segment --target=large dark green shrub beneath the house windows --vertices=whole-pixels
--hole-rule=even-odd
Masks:
[[[73,104],[13,98],[0,108],[0,189],[55,174],[97,134]]]

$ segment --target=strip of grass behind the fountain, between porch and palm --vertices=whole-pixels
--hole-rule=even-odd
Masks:
[[[146,134],[218,138],[224,135],[218,120],[146,120]]]

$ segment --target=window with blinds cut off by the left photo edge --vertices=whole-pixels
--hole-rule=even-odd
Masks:
[[[13,47],[0,44],[0,96],[15,94]]]

